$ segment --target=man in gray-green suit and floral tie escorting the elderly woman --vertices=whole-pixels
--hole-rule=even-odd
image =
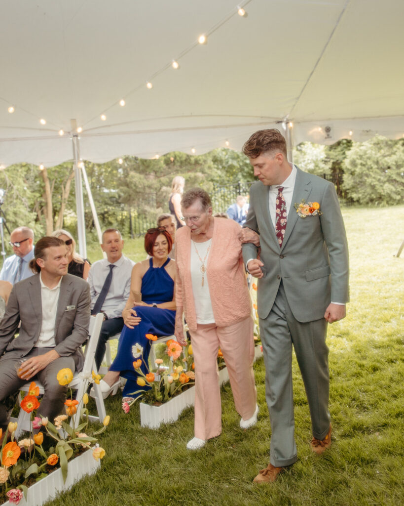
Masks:
[[[263,483],[275,481],[297,459],[292,346],[309,402],[311,448],[319,454],[331,444],[326,333],[327,323],[346,314],[348,246],[333,184],[290,164],[278,130],[256,132],[243,152],[260,180],[250,189],[241,240],[246,268],[259,278],[258,315],[272,430],[270,463],[254,479]],[[257,246],[248,242],[248,229],[259,234],[259,259]]]

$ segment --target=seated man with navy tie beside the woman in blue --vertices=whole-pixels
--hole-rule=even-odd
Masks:
[[[101,248],[107,258],[94,262],[88,273],[91,314],[104,315],[94,357],[97,369],[103,361],[107,341],[123,328],[122,311],[129,299],[130,275],[135,265],[122,255],[122,235],[116,228],[105,230]]]

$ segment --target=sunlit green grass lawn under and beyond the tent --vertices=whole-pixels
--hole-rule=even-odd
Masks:
[[[293,363],[298,460],[271,485],[252,479],[269,461],[271,436],[265,404],[263,359],[255,365],[260,413],[243,431],[229,385],[222,390],[223,433],[196,452],[193,408],[159,430],[143,429],[136,405],[128,415],[119,396],[102,435],[101,471],[77,484],[52,506],[378,505],[404,504],[403,490],[403,258],[393,255],[404,238],[404,206],[343,209],[350,249],[348,315],[329,326],[330,450],[311,452],[304,387]],[[96,260],[95,248],[94,258]],[[124,252],[144,258],[141,241]],[[140,255],[140,258],[139,258]],[[99,257],[100,258],[100,255]]]

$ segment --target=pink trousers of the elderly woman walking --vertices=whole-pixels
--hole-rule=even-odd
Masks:
[[[219,348],[229,372],[230,386],[238,414],[250,418],[257,405],[254,371],[254,336],[252,318],[233,325],[216,323],[197,325],[191,332],[195,361],[195,437],[210,439],[222,432],[217,357]]]

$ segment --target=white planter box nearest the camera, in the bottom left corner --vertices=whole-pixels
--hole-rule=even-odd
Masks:
[[[19,506],[41,506],[45,502],[54,499],[58,492],[69,490],[76,482],[85,475],[92,475],[98,471],[101,463],[92,456],[92,450],[87,450],[78,457],[69,460],[66,482],[63,483],[62,470],[57,469],[42,480],[28,488],[28,500],[25,496],[19,502]],[[14,503],[7,501],[2,506],[13,506]]]

